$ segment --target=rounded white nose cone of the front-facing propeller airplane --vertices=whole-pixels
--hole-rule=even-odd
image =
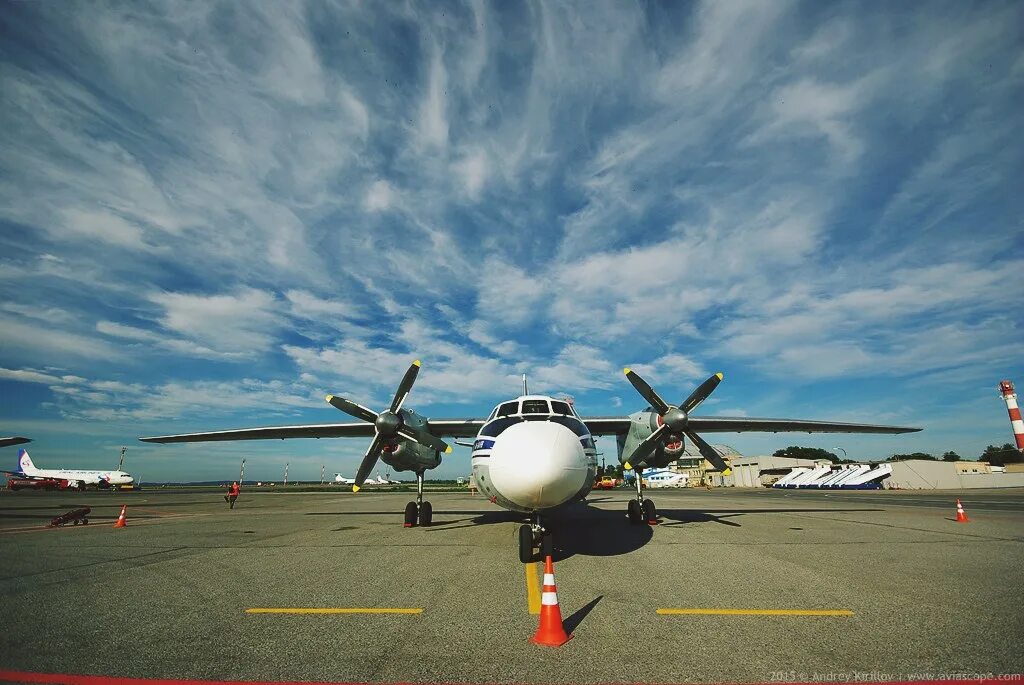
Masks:
[[[490,482],[524,509],[556,507],[587,481],[580,437],[557,423],[527,421],[506,429],[490,451]]]

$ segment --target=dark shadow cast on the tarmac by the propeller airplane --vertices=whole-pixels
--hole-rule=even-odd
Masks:
[[[554,534],[554,561],[562,561],[575,555],[606,557],[629,554],[651,541],[658,526],[634,525],[629,522],[626,512],[621,509],[599,509],[592,504],[575,503],[566,505],[550,512],[545,522]],[[734,517],[750,514],[806,514],[806,513],[850,513],[879,512],[884,509],[858,507],[856,509],[836,508],[793,508],[793,509],[742,509],[742,510],[699,510],[699,509],[663,509],[658,510],[660,526],[680,526],[694,523],[720,523],[730,527],[742,527],[740,523],[730,520]],[[307,512],[307,516],[381,516],[393,515],[397,512],[358,511],[358,512]],[[463,516],[454,520],[445,520],[447,516]],[[443,533],[458,528],[470,528],[479,525],[498,523],[521,523],[527,520],[525,514],[513,511],[467,511],[437,510],[434,512],[434,522],[430,527],[422,528],[424,532]],[[596,604],[600,598],[594,601]],[[590,607],[593,608],[593,607]],[[587,609],[590,610],[589,608]],[[584,613],[580,619],[585,616]]]

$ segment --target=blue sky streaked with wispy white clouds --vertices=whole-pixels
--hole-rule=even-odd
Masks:
[[[366,441],[143,445],[485,414],[920,425],[710,435],[977,456],[1024,383],[1024,6],[18,3],[0,13],[0,433],[145,480],[354,471]],[[613,445],[604,441],[610,456]],[[13,462],[14,449],[4,452]],[[469,470],[457,448],[437,473]]]

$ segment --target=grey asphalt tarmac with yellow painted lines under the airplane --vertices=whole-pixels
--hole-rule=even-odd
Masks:
[[[628,523],[628,490],[553,518],[574,637],[546,648],[528,642],[541,569],[518,561],[517,516],[482,497],[432,495],[434,525],[403,528],[404,494],[246,489],[229,511],[209,490],[3,493],[0,667],[458,683],[1024,673],[1020,489],[648,495],[653,527]],[[82,506],[89,525],[43,527]],[[720,612],[737,609],[762,613]]]

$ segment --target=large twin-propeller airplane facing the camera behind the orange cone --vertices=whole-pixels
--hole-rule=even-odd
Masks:
[[[526,563],[534,559],[538,543],[545,550],[550,549],[551,537],[543,523],[544,514],[568,502],[583,500],[593,487],[597,474],[595,435],[614,435],[620,463],[626,469],[635,469],[641,476],[635,479],[636,498],[630,500],[627,511],[632,523],[642,524],[657,521],[654,503],[643,496],[643,470],[664,468],[679,459],[684,438],[693,442],[716,469],[725,474],[730,472],[722,457],[698,432],[909,433],[921,430],[834,421],[691,417],[690,413],[718,387],[722,374],[709,378],[675,405],[662,399],[629,369],[625,370],[627,379],[649,404],[630,416],[582,418],[569,402],[547,395],[530,395],[523,387],[521,396],[502,402],[486,418],[429,419],[402,408],[419,371],[417,359],[398,384],[390,408],[381,413],[344,397],[327,396],[332,406],[359,419],[358,423],[242,428],[139,439],[166,443],[372,437],[352,490],[359,490],[378,459],[395,471],[415,472],[416,501],[406,505],[404,525],[409,527],[417,523],[430,525],[433,510],[430,503],[423,500],[423,474],[441,463],[442,454],[452,452],[440,436],[475,437],[473,476],[480,491],[495,504],[530,516],[531,522],[519,528],[519,558]]]

